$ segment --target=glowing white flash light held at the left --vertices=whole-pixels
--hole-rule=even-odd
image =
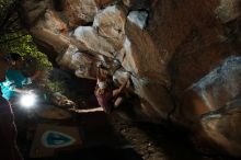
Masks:
[[[20,99],[21,106],[25,108],[32,107],[36,102],[36,95],[33,93],[24,94]]]

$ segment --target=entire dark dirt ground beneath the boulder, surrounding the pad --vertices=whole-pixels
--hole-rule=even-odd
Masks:
[[[37,124],[76,126],[83,139],[81,150],[38,160],[231,160],[232,158],[202,152],[182,127],[163,122],[151,124],[126,122],[103,112],[77,114],[67,121],[47,121],[34,114],[14,110],[19,129],[18,144],[25,160],[30,158]]]

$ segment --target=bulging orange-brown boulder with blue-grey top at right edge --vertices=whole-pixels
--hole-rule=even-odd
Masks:
[[[198,136],[234,156],[241,156],[240,80],[241,57],[231,56],[186,90],[175,113],[179,123],[188,124]],[[180,122],[181,117],[185,118]]]

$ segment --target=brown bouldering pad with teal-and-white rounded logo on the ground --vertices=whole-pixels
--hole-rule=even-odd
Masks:
[[[32,142],[30,157],[55,157],[61,151],[78,150],[81,147],[82,140],[77,127],[39,124]]]

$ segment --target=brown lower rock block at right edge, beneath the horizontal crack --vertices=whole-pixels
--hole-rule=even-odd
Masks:
[[[230,102],[219,112],[202,118],[205,137],[214,139],[216,144],[230,155],[240,157],[240,100]]]

